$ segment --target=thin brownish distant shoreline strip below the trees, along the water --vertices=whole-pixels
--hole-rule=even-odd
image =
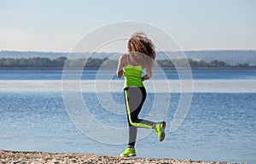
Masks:
[[[174,67],[162,67],[163,70],[186,70],[183,68]],[[63,70],[60,66],[0,66],[0,70]],[[72,70],[80,70],[80,68],[73,68]],[[99,70],[98,67],[85,67],[84,70]],[[107,68],[106,70],[113,70],[113,68]],[[256,70],[256,66],[227,66],[227,67],[191,67],[191,70]]]

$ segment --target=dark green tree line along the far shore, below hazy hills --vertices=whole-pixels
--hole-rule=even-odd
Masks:
[[[106,64],[106,62],[110,62],[110,65],[117,65],[117,60],[108,60],[105,59],[75,59],[70,60],[66,57],[60,57],[57,59],[49,59],[49,58],[30,58],[30,59],[10,59],[10,58],[2,58],[0,59],[0,67],[45,67],[45,68],[55,68],[55,67],[63,67],[65,62],[68,62],[69,65],[83,65],[86,60],[86,65],[84,67],[89,68],[100,68],[102,64]],[[108,60],[108,61],[107,61]],[[238,64],[238,65],[229,65],[224,61],[218,61],[217,59],[212,60],[211,62],[205,62],[203,60],[193,60],[193,59],[161,59],[156,62],[163,68],[174,68],[177,65],[185,65],[188,64],[190,67],[247,67],[249,66],[247,63]]]

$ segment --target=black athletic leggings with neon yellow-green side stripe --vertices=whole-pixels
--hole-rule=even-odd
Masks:
[[[142,120],[138,118],[142,110],[143,103],[147,97],[146,89],[143,87],[125,88],[125,105],[127,112],[127,119],[129,123],[129,143],[134,146],[137,138],[137,127],[151,128],[154,122]]]

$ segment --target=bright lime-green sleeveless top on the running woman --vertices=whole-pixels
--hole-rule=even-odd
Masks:
[[[142,81],[143,67],[141,65],[130,65],[129,57],[126,55],[128,65],[125,65],[123,68],[125,76],[125,85],[124,88],[130,87],[144,87]]]

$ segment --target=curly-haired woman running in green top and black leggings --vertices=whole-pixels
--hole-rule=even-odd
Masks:
[[[119,78],[125,76],[125,105],[129,123],[129,143],[120,156],[136,156],[134,146],[137,127],[154,129],[160,141],[165,139],[166,122],[155,123],[138,118],[147,96],[143,81],[152,76],[154,59],[154,44],[141,32],[131,36],[128,42],[128,54],[122,54],[119,58],[117,76]],[[145,76],[142,76],[143,69],[146,70]]]

